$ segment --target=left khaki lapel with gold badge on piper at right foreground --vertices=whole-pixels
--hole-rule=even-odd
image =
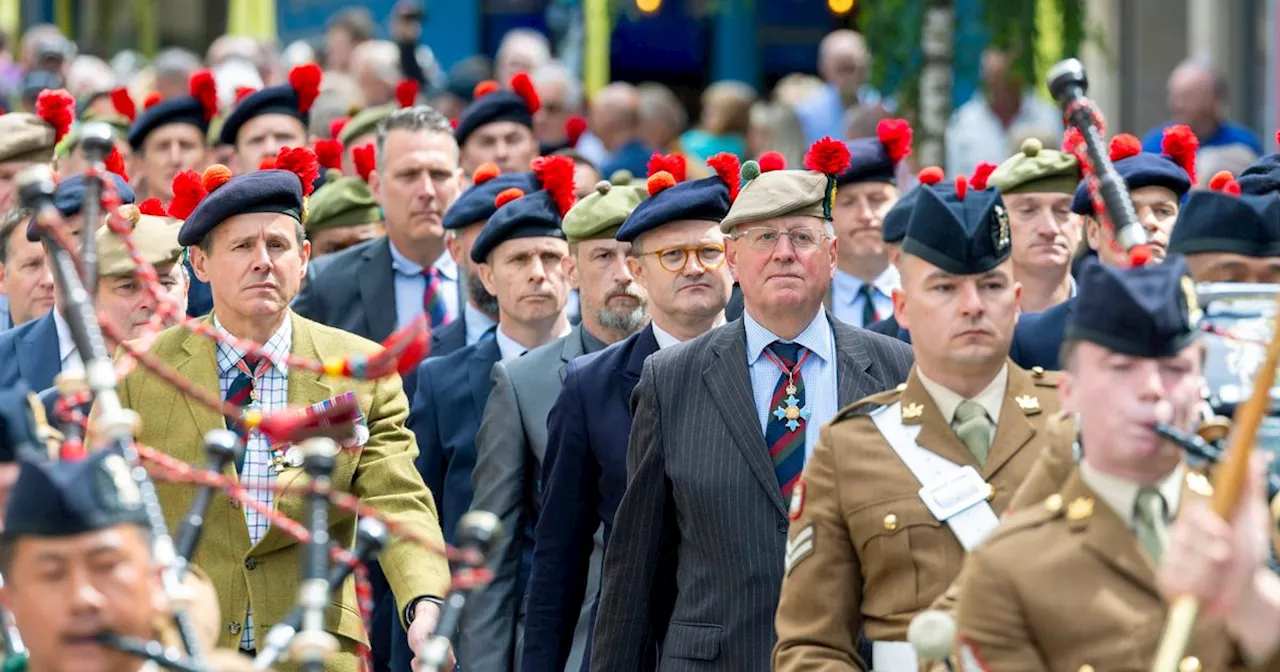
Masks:
[[[1092,512],[1073,520],[1071,507],[1076,502],[1088,502]],[[1156,590],[1156,566],[1151,557],[1120,516],[1084,484],[1079,468],[1071,472],[1062,486],[1062,506],[1068,509],[1068,529],[1080,535],[1084,548],[1153,596],[1160,595]]]

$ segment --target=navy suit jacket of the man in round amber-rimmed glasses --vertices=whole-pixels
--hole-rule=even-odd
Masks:
[[[522,672],[561,672],[586,591],[595,529],[608,543],[613,513],[627,488],[631,390],[644,361],[658,352],[653,326],[600,352],[571,361],[547,417],[543,515],[525,612]],[[590,641],[582,662],[591,659]]]

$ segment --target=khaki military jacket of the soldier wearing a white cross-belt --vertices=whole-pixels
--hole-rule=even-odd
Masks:
[[[911,618],[956,579],[964,547],[929,512],[920,483],[867,411],[900,402],[902,424],[920,428],[916,443],[978,470],[998,513],[1055,440],[1042,424],[1059,404],[1053,375],[1011,362],[1007,371],[986,466],[956,436],[915,369],[904,385],[850,406],[822,429],[792,500],[774,669],[863,669],[863,628],[872,640],[905,641]]]

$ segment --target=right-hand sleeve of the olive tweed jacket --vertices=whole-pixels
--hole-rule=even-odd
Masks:
[[[365,419],[369,443],[360,456],[352,493],[393,525],[412,531],[443,550],[440,518],[422,476],[413,466],[417,443],[413,433],[404,426],[406,417],[408,399],[399,376],[378,380],[374,401]],[[404,608],[415,598],[443,598],[449,591],[449,566],[444,556],[425,549],[416,541],[393,535],[379,561],[402,618]]]

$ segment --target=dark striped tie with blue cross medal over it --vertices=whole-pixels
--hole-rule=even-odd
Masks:
[[[801,352],[804,351],[804,352]],[[809,358],[809,351],[799,343],[774,340],[763,353],[781,371],[778,384],[769,401],[769,421],[764,426],[764,443],[769,445],[773,472],[782,488],[782,499],[788,500],[791,490],[804,471],[805,425],[809,410],[804,403],[804,379],[800,367]]]

